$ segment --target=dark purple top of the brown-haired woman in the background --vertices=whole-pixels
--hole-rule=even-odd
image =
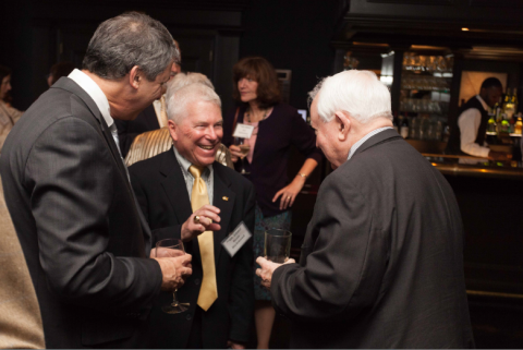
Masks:
[[[243,122],[246,106],[240,107],[238,122]],[[232,128],[234,114],[232,110],[226,116],[223,125],[223,144],[230,146],[234,143]],[[315,159],[318,164],[323,157],[321,150],[316,148],[316,135],[313,129],[302,119],[302,116],[294,107],[289,105],[276,105],[270,116],[259,121],[258,136],[254,147],[253,164],[244,158],[245,170],[251,174],[246,176],[256,188],[256,200],[265,217],[278,215],[280,200],[272,203],[276,192],[289,184],[287,166],[291,145],[307,158]],[[234,165],[236,170],[241,168],[241,161]]]

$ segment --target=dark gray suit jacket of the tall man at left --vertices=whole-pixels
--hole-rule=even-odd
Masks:
[[[143,347],[161,270],[95,101],[60,79],[13,128],[0,170],[47,347]]]

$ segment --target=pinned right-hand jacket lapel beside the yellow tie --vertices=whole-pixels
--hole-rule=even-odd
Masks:
[[[222,172],[222,165],[215,161],[212,165],[214,170],[214,194],[212,205],[220,209],[220,226],[221,230],[215,232],[215,264],[218,266],[220,253],[222,251],[221,241],[230,233],[229,222],[232,216],[232,209],[234,208],[235,193],[230,189],[231,182]],[[224,200],[227,198],[227,200]]]

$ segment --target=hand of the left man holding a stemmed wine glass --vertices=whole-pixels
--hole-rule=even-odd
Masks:
[[[183,252],[180,252],[183,254]],[[155,257],[161,269],[161,290],[173,291],[183,286],[185,279],[191,276],[191,254],[177,257]]]

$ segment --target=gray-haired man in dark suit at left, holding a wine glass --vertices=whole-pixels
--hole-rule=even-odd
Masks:
[[[5,202],[48,348],[144,347],[160,288],[181,287],[191,273],[190,256],[148,258],[150,231],[113,123],[159,97],[177,59],[161,23],[136,12],[110,19],[95,32],[83,71],[44,93],[5,142]]]

